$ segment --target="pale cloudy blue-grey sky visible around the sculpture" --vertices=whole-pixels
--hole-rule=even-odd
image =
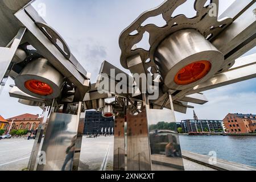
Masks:
[[[119,61],[119,35],[143,11],[162,2],[163,0],[38,0],[33,6],[37,10],[42,5],[46,7],[43,18],[64,38],[81,65],[92,73],[92,82],[95,82],[104,60],[129,73]],[[234,0],[220,0],[220,14],[233,2]],[[177,14],[185,14],[188,18],[194,16],[193,0],[188,0],[179,7],[174,12],[174,15]],[[150,20],[157,25],[162,23],[159,18]],[[146,44],[147,42],[142,42],[141,46],[146,47]],[[256,52],[256,48],[246,55],[253,52]],[[42,113],[38,107],[18,104],[16,98],[9,97],[10,84],[14,82],[9,78],[0,95],[0,115],[10,118],[23,113]],[[204,94],[209,100],[207,104],[191,104],[195,106],[199,119],[223,119],[228,113],[256,113],[256,79],[209,90]],[[176,113],[177,121],[192,117],[192,109],[188,109],[187,114]]]

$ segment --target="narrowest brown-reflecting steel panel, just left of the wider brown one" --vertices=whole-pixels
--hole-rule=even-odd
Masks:
[[[122,99],[122,106],[118,104],[118,98],[115,99],[115,117],[114,117],[114,171],[125,170],[125,102]]]

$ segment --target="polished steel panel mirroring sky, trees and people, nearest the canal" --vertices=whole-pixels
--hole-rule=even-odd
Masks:
[[[147,96],[143,96],[143,100],[146,103],[152,170],[184,170],[171,95],[171,110],[150,109]]]

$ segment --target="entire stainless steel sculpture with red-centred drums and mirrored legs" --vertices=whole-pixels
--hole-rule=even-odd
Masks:
[[[172,16],[186,0],[166,0],[127,27],[119,38],[121,65],[133,74],[153,75],[146,82],[158,90],[154,99],[140,80],[107,61],[91,85],[90,74],[31,2],[0,1],[0,86],[13,78],[10,96],[44,110],[30,170],[78,169],[89,109],[114,116],[114,170],[183,170],[174,111],[186,113],[192,108],[188,102],[207,103],[200,92],[256,77],[255,54],[239,58],[256,45],[255,0],[237,0],[220,16],[217,0],[196,0],[193,18]],[[162,16],[166,25],[142,26],[152,16]],[[145,32],[148,50],[136,45]],[[102,86],[103,80],[109,85]],[[117,92],[121,84],[134,92]]]

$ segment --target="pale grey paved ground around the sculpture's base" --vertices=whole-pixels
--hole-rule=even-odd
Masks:
[[[12,138],[0,140],[0,171],[19,171],[27,167],[34,140]],[[108,155],[109,154],[109,155]],[[113,137],[82,140],[80,170],[112,170]],[[106,165],[104,162],[106,161]],[[213,170],[183,159],[185,170]]]

